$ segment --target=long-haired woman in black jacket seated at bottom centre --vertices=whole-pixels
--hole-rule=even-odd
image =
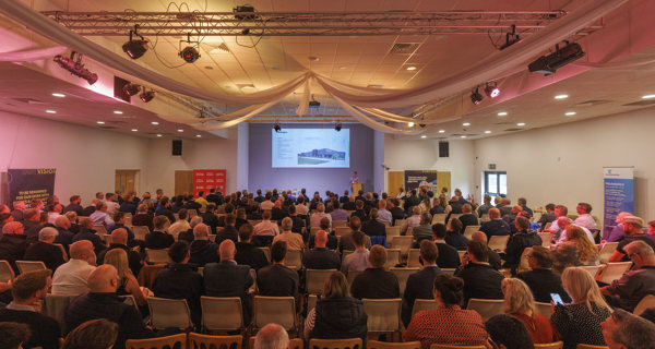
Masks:
[[[350,297],[348,281],[342,272],[325,279],[323,296],[307,313],[305,337],[338,339],[359,337],[366,339],[368,316],[364,303]]]

